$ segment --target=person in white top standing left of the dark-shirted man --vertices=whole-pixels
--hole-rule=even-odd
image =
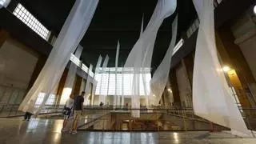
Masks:
[[[70,94],[70,98],[66,101],[64,106],[63,114],[64,114],[64,122],[62,126],[62,132],[66,131],[66,124],[69,122],[70,115],[74,108],[74,94]]]

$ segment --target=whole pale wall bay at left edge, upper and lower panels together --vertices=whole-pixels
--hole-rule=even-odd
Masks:
[[[9,38],[0,48],[0,103],[21,102],[38,55]]]

